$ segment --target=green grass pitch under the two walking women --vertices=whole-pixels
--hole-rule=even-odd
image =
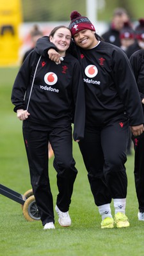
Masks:
[[[22,123],[17,120],[10,101],[18,68],[0,68],[0,170],[1,184],[19,193],[31,188],[28,163],[22,138]],[[74,143],[74,157],[79,170],[70,216],[72,226],[62,228],[56,219],[56,229],[44,231],[40,221],[26,221],[20,204],[0,195],[0,255],[1,256],[143,256],[144,222],[138,221],[138,202],[134,188],[134,154],[127,160],[128,191],[126,213],[131,227],[100,229],[100,216],[93,202],[86,170]],[[51,189],[56,202],[58,189],[56,172],[49,163]],[[113,204],[111,204],[113,211]]]

